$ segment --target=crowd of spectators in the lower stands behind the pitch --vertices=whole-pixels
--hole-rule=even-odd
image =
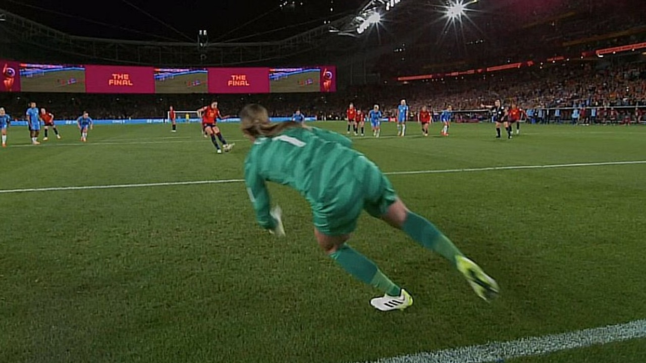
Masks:
[[[481,104],[491,105],[495,99],[523,109],[623,110],[646,108],[646,63],[599,68],[599,63],[572,60],[406,85],[362,85],[333,94],[0,94],[0,106],[16,119],[25,118],[30,101],[54,113],[56,119],[76,119],[85,110],[95,119],[140,119],[163,118],[171,105],[176,110],[197,110],[213,99],[229,116],[236,116],[247,103],[261,103],[271,116],[291,116],[300,109],[318,119],[344,118],[350,102],[366,111],[380,105],[392,117],[401,99],[407,100],[413,114],[424,105],[435,111],[448,105],[464,112],[479,110]]]

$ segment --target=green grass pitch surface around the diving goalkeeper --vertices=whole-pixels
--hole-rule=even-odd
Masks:
[[[646,318],[646,164],[619,163],[646,160],[646,127],[523,125],[495,140],[492,125],[424,138],[412,124],[397,138],[388,124],[379,140],[355,138],[501,286],[479,300],[446,261],[366,215],[351,245],[415,298],[390,313],[318,249],[297,192],[270,187],[286,238],[258,229],[238,125],[222,125],[229,154],[197,124],[99,125],[87,143],[59,129],[30,146],[10,127],[0,149],[0,362],[409,362]],[[606,335],[506,361],[643,362],[646,340]]]

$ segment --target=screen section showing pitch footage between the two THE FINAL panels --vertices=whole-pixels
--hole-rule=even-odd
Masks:
[[[155,68],[156,93],[207,93],[208,82],[206,69]]]

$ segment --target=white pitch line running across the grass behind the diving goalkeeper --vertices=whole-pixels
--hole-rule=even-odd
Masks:
[[[517,165],[517,166],[508,166],[508,167],[485,167],[485,168],[470,168],[470,169],[393,171],[393,172],[384,172],[384,174],[386,175],[444,174],[444,173],[450,173],[450,172],[503,171],[503,170],[515,170],[515,169],[554,169],[554,168],[565,168],[565,167],[594,167],[594,166],[603,166],[603,165],[631,165],[631,164],[646,164],[646,160],[607,161],[602,163],[574,163],[574,164],[551,164],[551,165]],[[196,180],[193,182],[163,182],[163,183],[141,183],[141,184],[84,185],[84,186],[78,186],[78,187],[0,189],[0,194],[20,193],[20,192],[81,191],[81,190],[87,190],[87,189],[166,187],[166,186],[172,186],[172,185],[223,184],[223,183],[240,183],[240,182],[244,182],[244,179]]]

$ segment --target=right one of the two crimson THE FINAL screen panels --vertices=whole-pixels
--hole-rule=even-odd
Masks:
[[[209,93],[269,93],[269,68],[209,68]]]

